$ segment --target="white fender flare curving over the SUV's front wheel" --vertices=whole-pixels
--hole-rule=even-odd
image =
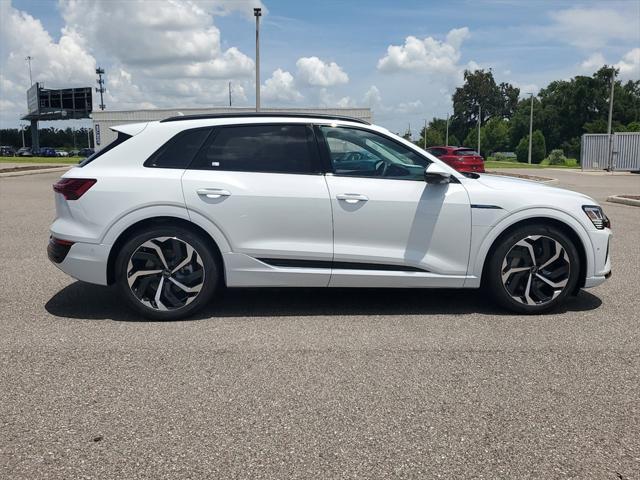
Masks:
[[[480,244],[480,247],[478,248],[478,251],[476,253],[475,261],[472,265],[472,270],[469,273],[473,276],[476,276],[477,278],[480,278],[482,276],[482,270],[484,268],[484,263],[489,250],[493,246],[496,239],[506,229],[523,220],[544,220],[547,218],[562,222],[575,232],[584,248],[585,258],[587,260],[587,264],[585,265],[586,275],[587,277],[592,276],[595,265],[595,251],[593,248],[593,244],[591,243],[591,238],[589,237],[589,234],[587,233],[584,225],[582,225],[582,223],[580,223],[575,217],[567,214],[562,210],[540,207],[511,212],[507,217],[501,219],[498,223],[496,223],[482,240],[482,243]]]

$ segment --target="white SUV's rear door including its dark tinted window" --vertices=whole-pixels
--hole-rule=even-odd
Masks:
[[[232,252],[223,252],[231,254],[228,283],[327,285],[333,232],[321,170],[308,125],[243,124],[214,130],[185,171],[182,185],[187,208],[213,222],[231,245]],[[293,274],[309,264],[325,268],[304,278]],[[233,265],[242,267],[234,270]],[[271,279],[269,273],[274,274]]]

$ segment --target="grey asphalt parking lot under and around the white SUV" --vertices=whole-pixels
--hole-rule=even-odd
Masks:
[[[640,208],[604,202],[640,175],[541,174],[615,233],[613,277],[558,312],[229,290],[171,323],[49,263],[59,173],[0,178],[0,478],[640,477]]]

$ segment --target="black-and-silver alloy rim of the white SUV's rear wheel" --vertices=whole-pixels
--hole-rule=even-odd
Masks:
[[[127,282],[143,305],[159,311],[176,310],[193,302],[202,290],[202,257],[179,238],[152,238],[129,258]]]

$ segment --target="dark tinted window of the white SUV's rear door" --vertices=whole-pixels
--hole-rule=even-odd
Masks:
[[[307,125],[220,127],[191,168],[237,172],[316,173],[320,171],[313,133]]]

